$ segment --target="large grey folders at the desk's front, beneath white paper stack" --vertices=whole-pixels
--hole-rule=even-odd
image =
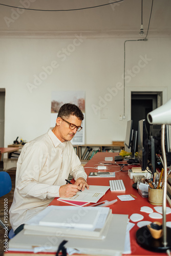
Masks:
[[[78,208],[83,209],[87,207]],[[101,207],[101,209],[105,208]],[[91,237],[87,237],[87,239],[85,239],[82,237],[84,233],[83,230],[80,230],[80,235],[77,237],[65,236],[65,238],[63,238],[58,236],[58,233],[49,234],[47,232],[41,232],[40,235],[36,234],[36,232],[34,233],[33,230],[32,234],[30,235],[25,233],[25,229],[20,231],[13,239],[9,241],[8,251],[56,252],[59,244],[65,239],[68,241],[65,244],[66,248],[77,249],[80,251],[80,253],[121,256],[122,252],[124,251],[127,221],[127,215],[111,215],[109,229],[108,232],[106,232],[106,237],[104,239],[92,239]]]

